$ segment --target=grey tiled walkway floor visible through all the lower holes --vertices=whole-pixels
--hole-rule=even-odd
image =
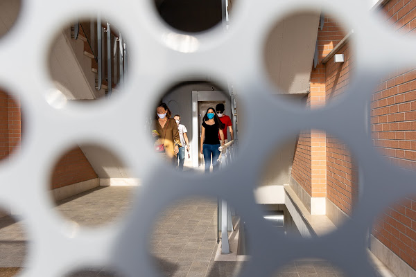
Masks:
[[[121,216],[132,204],[137,187],[98,187],[64,199],[57,209],[83,226],[99,226]],[[166,277],[232,277],[243,262],[215,260],[218,244],[216,199],[184,199],[166,209],[155,222],[150,238],[150,253]],[[26,253],[24,222],[0,218],[0,276],[15,276]],[[71,277],[118,276],[104,269],[77,271]],[[273,277],[346,277],[329,262],[300,260],[292,262]]]

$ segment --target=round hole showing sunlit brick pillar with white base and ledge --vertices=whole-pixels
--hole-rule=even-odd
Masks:
[[[254,196],[264,220],[277,232],[313,238],[335,231],[354,216],[358,165],[335,136],[318,129],[302,131],[264,163]]]

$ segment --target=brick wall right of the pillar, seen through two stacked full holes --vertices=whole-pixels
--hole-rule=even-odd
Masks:
[[[345,23],[334,17],[325,17],[324,28],[318,30],[319,62],[347,35]],[[350,71],[354,70],[354,56],[349,43],[337,54],[344,54],[343,63],[333,62],[331,57],[324,65],[324,102],[338,98],[349,84]],[[311,77],[313,76],[313,73]],[[326,139],[326,195],[338,208],[351,214],[352,206],[358,195],[357,170],[352,164],[347,145],[340,143],[331,134],[322,136]]]

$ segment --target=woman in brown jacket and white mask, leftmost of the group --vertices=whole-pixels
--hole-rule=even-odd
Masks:
[[[161,152],[164,154],[164,158],[174,163],[174,158],[177,152],[179,152],[179,148],[182,146],[177,130],[177,124],[175,120],[171,118],[171,111],[165,103],[160,103],[157,106],[156,114],[157,120],[155,120],[153,126],[153,130],[156,130],[157,132],[153,132],[153,136],[157,137],[155,149],[157,146],[163,145],[164,151]]]

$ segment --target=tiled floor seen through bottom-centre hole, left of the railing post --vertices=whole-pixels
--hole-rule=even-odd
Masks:
[[[186,199],[159,216],[150,242],[165,276],[234,276],[241,262],[214,261],[218,244],[216,199]]]

